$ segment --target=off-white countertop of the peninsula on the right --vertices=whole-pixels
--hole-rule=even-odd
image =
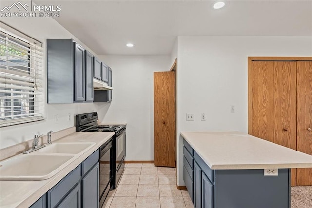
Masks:
[[[312,156],[241,132],[181,132],[211,169],[311,168]]]

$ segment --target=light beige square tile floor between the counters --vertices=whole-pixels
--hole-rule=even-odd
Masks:
[[[176,189],[176,169],[128,163],[102,208],[194,208],[187,190]]]

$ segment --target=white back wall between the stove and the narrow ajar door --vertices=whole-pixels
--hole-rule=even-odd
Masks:
[[[127,122],[126,160],[154,160],[153,72],[170,56],[99,56],[113,71],[113,101],[103,122]]]

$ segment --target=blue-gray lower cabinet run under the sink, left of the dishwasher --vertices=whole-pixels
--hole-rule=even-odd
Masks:
[[[99,151],[93,152],[30,208],[98,208]]]

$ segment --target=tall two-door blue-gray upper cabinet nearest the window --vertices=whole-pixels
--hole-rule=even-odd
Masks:
[[[48,103],[92,102],[90,76],[80,45],[73,39],[47,39]]]

